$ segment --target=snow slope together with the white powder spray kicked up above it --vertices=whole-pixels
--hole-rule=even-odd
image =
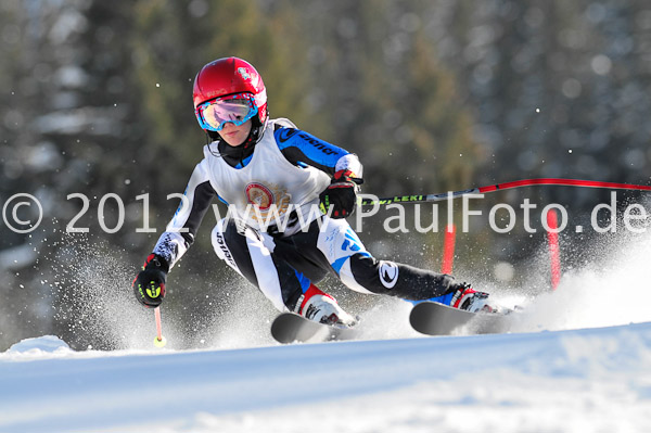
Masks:
[[[103,305],[123,349],[40,336],[0,353],[0,432],[651,432],[650,238],[570,247],[589,263],[507,334],[425,338],[408,303],[375,298],[359,340],[281,346],[247,303],[202,349],[175,349],[192,335],[164,316],[155,349],[151,310]],[[547,284],[527,272],[524,289]]]

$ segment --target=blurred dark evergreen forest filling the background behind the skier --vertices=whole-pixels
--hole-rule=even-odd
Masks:
[[[641,0],[3,0],[0,204],[33,194],[43,220],[30,233],[0,221],[1,349],[43,333],[124,347],[144,326],[124,318],[142,315],[130,282],[177,207],[167,194],[183,191],[202,157],[194,76],[228,55],[260,72],[271,117],[357,153],[367,193],[536,177],[649,183],[651,5]],[[87,233],[66,233],[82,205],[74,193],[89,198],[75,224]],[[116,226],[115,196],[98,220],[108,193],[125,206],[115,233],[100,226]],[[156,233],[137,232],[141,194]],[[586,226],[610,203],[607,190],[539,187],[473,205],[518,209],[525,198],[562,204],[571,225]],[[646,198],[618,193],[618,205]],[[360,235],[379,256],[437,268],[446,204],[438,214],[438,232],[387,233],[382,219],[394,214],[381,211]],[[432,206],[422,215],[431,220]],[[250,296],[231,290],[241,282],[212,251],[214,222],[168,283],[166,315],[187,335],[210,329],[229,296]],[[582,253],[591,238],[562,237],[566,266],[592,259]],[[545,272],[531,267],[544,242],[522,224],[499,234],[478,218],[458,235],[456,272],[516,288]],[[369,302],[326,285],[350,305]],[[269,314],[259,308],[271,307],[244,314]]]

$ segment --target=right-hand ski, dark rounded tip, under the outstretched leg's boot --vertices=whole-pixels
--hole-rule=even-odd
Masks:
[[[411,309],[409,323],[418,332],[427,335],[450,335],[461,332],[493,334],[509,330],[512,311],[508,309],[503,313],[470,313],[424,301]]]

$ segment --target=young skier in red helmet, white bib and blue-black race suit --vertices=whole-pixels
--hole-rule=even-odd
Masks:
[[[471,311],[485,307],[488,295],[469,284],[380,260],[367,251],[344,219],[355,208],[362,181],[357,155],[285,118],[270,119],[263,78],[250,63],[225,58],[206,64],[194,79],[193,99],[208,144],[190,177],[187,200],[133,280],[140,303],[161,305],[167,272],[190,247],[217,198],[230,213],[212,232],[217,256],[281,311],[355,324],[334,297],[315,285],[328,272],[361,293],[433,300]]]

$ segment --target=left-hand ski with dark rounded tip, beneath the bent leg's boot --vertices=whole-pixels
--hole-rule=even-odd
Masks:
[[[271,323],[271,335],[282,344],[350,340],[355,331],[354,328],[317,323],[294,313],[281,313]]]

